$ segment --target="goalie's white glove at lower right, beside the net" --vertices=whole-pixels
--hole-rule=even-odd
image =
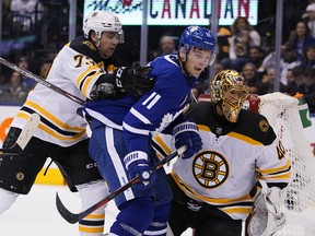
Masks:
[[[249,236],[271,236],[285,224],[285,215],[280,212],[280,188],[268,188],[265,181],[260,184],[262,189],[254,202],[254,215],[247,227]]]

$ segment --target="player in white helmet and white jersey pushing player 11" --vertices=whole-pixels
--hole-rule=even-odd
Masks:
[[[67,44],[58,54],[47,81],[85,101],[117,98],[126,93],[141,95],[153,82],[142,75],[141,68],[120,68],[108,74],[109,57],[124,42],[120,21],[109,12],[93,11],[83,23],[84,36]],[[15,116],[3,149],[11,146],[34,113],[40,123],[24,152],[0,158],[0,213],[8,210],[19,194],[27,194],[47,157],[58,165],[72,191],[79,191],[82,210],[108,194],[96,164],[89,155],[86,121],[77,114],[74,103],[37,84]],[[49,204],[52,204],[50,202]],[[105,208],[105,206],[104,206]],[[81,236],[100,236],[104,229],[104,208],[79,223]]]

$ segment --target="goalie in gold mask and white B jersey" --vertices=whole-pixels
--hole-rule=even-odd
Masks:
[[[202,149],[191,158],[178,158],[168,176],[174,236],[188,227],[196,236],[241,236],[242,221],[253,209],[249,192],[258,179],[267,185],[255,204],[250,235],[271,235],[283,226],[279,192],[289,182],[290,161],[266,118],[242,109],[247,90],[242,74],[223,70],[210,83],[211,103],[191,104],[185,110],[198,125]],[[165,156],[174,150],[173,137],[160,134],[153,146]]]

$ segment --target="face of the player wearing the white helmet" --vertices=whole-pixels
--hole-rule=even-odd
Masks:
[[[113,55],[119,43],[119,35],[115,32],[103,32],[100,39],[100,50],[105,58]]]

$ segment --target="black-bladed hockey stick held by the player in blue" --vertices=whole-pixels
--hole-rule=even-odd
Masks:
[[[176,156],[182,155],[185,151],[186,151],[186,146],[185,145],[180,146],[178,150],[174,151],[173,153],[167,155],[164,160],[162,160],[160,163],[158,163],[155,165],[155,167],[153,168],[153,172],[156,172],[158,169],[163,167],[163,165],[165,163],[168,163],[171,160],[175,158]],[[90,206],[89,209],[86,209],[85,211],[83,211],[83,212],[81,212],[79,214],[70,212],[63,205],[63,203],[61,202],[61,200],[60,200],[60,198],[58,196],[58,192],[56,193],[56,205],[57,205],[58,212],[61,214],[61,216],[67,222],[69,222],[70,224],[75,224],[77,222],[81,221],[86,215],[89,215],[90,213],[92,213],[96,209],[101,208],[102,205],[106,204],[112,199],[116,198],[118,194],[120,194],[121,192],[124,192],[125,190],[127,190],[128,188],[130,188],[131,186],[133,186],[135,184],[137,184],[139,181],[140,181],[140,177],[139,176],[133,178],[133,179],[131,179],[125,186],[121,186],[116,191],[114,191],[113,193],[108,194],[106,198],[104,198],[103,200],[98,201],[97,203],[95,203],[94,205]]]

